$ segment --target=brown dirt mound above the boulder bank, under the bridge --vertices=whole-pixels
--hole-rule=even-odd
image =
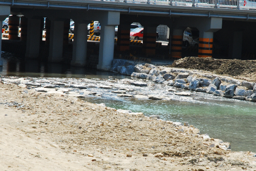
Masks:
[[[186,57],[174,61],[170,67],[208,70],[219,75],[256,81],[256,60]]]

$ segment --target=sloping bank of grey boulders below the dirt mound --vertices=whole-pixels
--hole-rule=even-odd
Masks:
[[[135,62],[118,59],[113,61],[111,70],[177,88],[256,102],[256,84],[254,82],[215,75],[211,72],[145,63],[136,64]]]

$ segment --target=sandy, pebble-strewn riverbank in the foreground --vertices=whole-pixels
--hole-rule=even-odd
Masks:
[[[3,82],[0,103],[0,170],[256,170],[193,126]]]

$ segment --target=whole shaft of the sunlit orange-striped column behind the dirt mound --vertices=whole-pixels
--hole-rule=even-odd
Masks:
[[[212,57],[212,44],[214,42],[214,32],[199,33],[198,57]]]

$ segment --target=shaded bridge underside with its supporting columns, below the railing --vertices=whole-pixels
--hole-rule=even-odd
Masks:
[[[183,9],[176,10],[182,11]],[[215,10],[212,11],[216,13]],[[190,12],[193,13],[193,11]],[[69,22],[70,19],[74,20],[73,53],[70,61],[73,66],[85,66],[87,63],[89,53],[87,26],[92,20],[99,21],[101,24],[99,52],[96,53],[98,54],[97,68],[101,70],[109,70],[112,65],[115,48],[115,26],[119,28],[116,51],[122,54],[131,53],[129,34],[130,25],[133,22],[139,22],[144,27],[141,51],[146,57],[158,55],[156,36],[159,25],[166,25],[169,28],[169,45],[165,50],[168,58],[179,59],[183,56],[183,32],[187,27],[199,32],[198,57],[212,57],[214,51],[221,51],[226,58],[241,59],[244,53],[256,53],[253,48],[255,44],[253,31],[256,28],[254,20],[227,18],[227,15],[222,18],[219,16],[212,17],[210,13],[208,17],[172,15],[170,10],[170,15],[166,15],[165,13],[129,13],[113,9],[91,10],[89,6],[87,9],[60,9],[0,5],[0,24],[10,14],[13,16],[9,18],[9,34],[14,36],[10,36],[9,39],[16,39],[16,41],[22,41],[26,44],[26,58],[38,58],[40,56],[40,46],[44,45],[47,47],[48,62],[62,62],[65,60],[63,52],[69,44],[67,40]],[[18,25],[15,25],[15,21],[19,21],[19,17],[16,15],[24,15],[20,21],[22,27],[20,38],[17,36],[18,33],[15,32],[15,29],[18,32]],[[46,41],[42,41],[43,17],[47,17],[45,23]],[[0,50],[1,42],[2,40],[0,41]],[[0,63],[0,65],[2,64]]]

